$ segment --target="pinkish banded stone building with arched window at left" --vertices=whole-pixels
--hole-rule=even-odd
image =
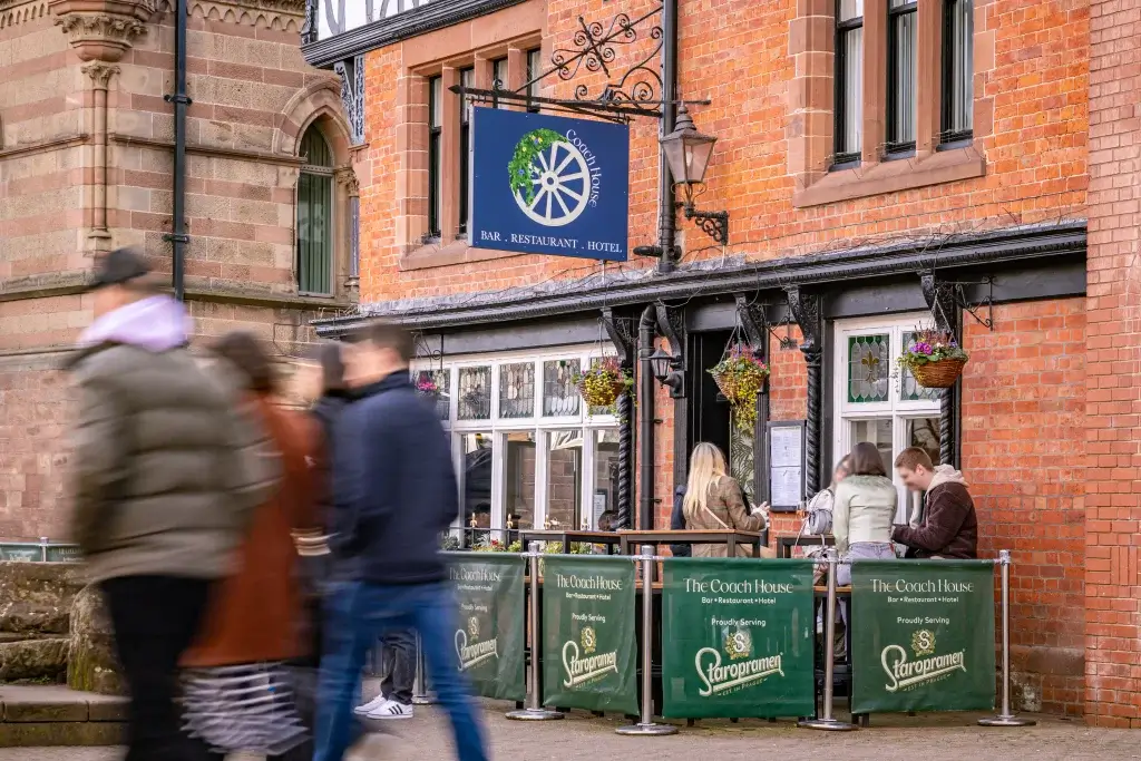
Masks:
[[[301,0],[187,3],[185,289],[201,335],[289,354],[349,308],[354,130],[299,50]],[[91,259],[171,272],[175,13],[154,0],[0,0],[0,541],[65,539],[62,351]]]

